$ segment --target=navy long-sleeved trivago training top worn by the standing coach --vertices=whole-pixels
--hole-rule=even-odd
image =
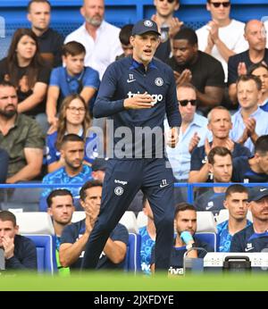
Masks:
[[[126,98],[145,92],[155,99],[153,107],[139,110],[124,108],[123,101]],[[181,117],[177,103],[175,79],[172,69],[167,64],[153,59],[146,71],[142,63],[136,62],[131,57],[126,57],[108,66],[99,88],[93,114],[96,118],[109,117],[113,119],[114,144],[111,143],[113,144],[111,147],[117,149],[117,146],[120,145],[117,143],[123,140],[124,146],[120,147],[125,151],[124,155],[114,151],[114,154],[108,155],[109,157],[142,158],[148,157],[147,154],[151,154],[150,157],[163,156],[163,143],[160,149],[159,138],[163,138],[165,113],[170,127],[180,126]],[[140,134],[138,127],[140,129],[147,127],[147,131],[143,130],[144,134]],[[152,130],[155,132],[153,138]],[[127,134],[124,134],[125,132]],[[149,146],[147,150],[147,141],[152,139],[152,146]],[[113,151],[112,148],[109,149],[110,152]],[[159,156],[155,154],[159,154]]]

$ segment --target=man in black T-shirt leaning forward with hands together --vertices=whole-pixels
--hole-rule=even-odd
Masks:
[[[167,63],[174,71],[177,86],[191,82],[197,88],[198,111],[207,114],[221,104],[224,88],[222,63],[198,51],[197,34],[182,28],[172,40],[173,56]]]

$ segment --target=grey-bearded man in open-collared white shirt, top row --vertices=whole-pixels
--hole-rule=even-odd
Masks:
[[[64,43],[77,41],[86,48],[85,65],[99,72],[102,79],[107,66],[122,54],[119,40],[120,29],[104,20],[104,0],[84,0],[80,13],[85,22],[71,32]]]

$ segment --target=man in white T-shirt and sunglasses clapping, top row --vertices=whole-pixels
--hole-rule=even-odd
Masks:
[[[222,63],[227,82],[229,57],[248,48],[244,38],[245,24],[230,18],[229,0],[207,0],[206,10],[211,13],[211,21],[197,29],[198,48]]]

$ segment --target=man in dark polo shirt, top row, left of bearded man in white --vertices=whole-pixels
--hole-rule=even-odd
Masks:
[[[47,0],[31,0],[27,11],[42,57],[54,67],[62,65],[63,37],[49,28],[51,4]]]

